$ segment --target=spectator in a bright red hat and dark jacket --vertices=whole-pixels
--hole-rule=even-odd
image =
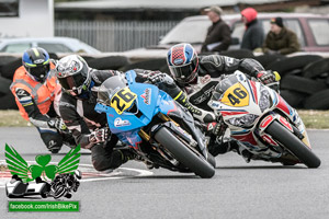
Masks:
[[[257,20],[257,11],[252,8],[247,8],[241,11],[241,15],[246,25],[241,48],[249,50],[261,48],[264,39],[264,31],[261,23]]]

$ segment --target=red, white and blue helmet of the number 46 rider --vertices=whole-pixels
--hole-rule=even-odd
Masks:
[[[172,78],[188,84],[197,77],[198,58],[191,44],[178,44],[167,53],[167,62]]]

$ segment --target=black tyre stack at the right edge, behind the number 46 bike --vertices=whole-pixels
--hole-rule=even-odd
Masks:
[[[296,108],[329,110],[329,59],[316,55],[288,57],[273,61],[266,69],[276,70],[281,95]]]

